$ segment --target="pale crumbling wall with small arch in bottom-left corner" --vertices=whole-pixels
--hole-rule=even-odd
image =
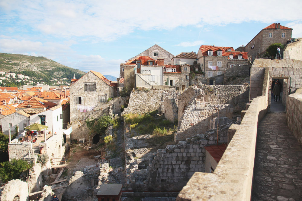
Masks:
[[[19,197],[19,201],[28,201],[28,187],[25,181],[13,179],[0,188],[0,200],[12,201]]]

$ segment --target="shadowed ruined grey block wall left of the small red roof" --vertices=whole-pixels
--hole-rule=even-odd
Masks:
[[[227,140],[230,125],[219,130],[219,143]],[[205,146],[217,143],[217,130],[208,131],[177,145],[158,149],[149,161],[148,185],[156,191],[177,191],[186,185],[194,172],[205,171]]]

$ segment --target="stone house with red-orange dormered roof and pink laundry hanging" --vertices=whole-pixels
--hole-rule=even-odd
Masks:
[[[247,65],[248,54],[237,52],[233,47],[200,46],[197,63],[200,64],[205,77],[213,77],[223,74],[227,68]]]

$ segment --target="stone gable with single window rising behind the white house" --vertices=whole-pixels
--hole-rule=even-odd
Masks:
[[[172,57],[174,57],[174,55],[172,55],[170,52],[168,52],[167,50],[163,49],[162,47],[156,44],[150,47],[149,49],[146,49],[139,55],[130,58],[129,61],[140,56],[148,56],[151,57],[153,60],[157,60],[157,58],[163,58],[164,64],[169,64],[171,62]]]

